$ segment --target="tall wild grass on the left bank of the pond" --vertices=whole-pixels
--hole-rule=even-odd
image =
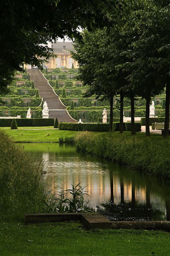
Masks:
[[[0,132],[0,219],[23,221],[26,212],[42,212],[48,195],[43,164]]]

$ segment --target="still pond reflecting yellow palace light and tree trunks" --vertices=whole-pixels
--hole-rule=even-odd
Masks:
[[[170,221],[170,182],[144,175],[95,156],[79,153],[70,145],[22,144],[32,159],[45,160],[53,190],[81,182],[91,197],[90,207],[110,220]]]

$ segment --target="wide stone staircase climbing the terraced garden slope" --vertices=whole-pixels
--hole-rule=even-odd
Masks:
[[[48,84],[43,74],[38,69],[28,69],[28,73],[31,80],[34,81],[35,88],[38,89],[39,96],[43,98],[43,101],[47,102],[49,118],[57,118],[58,122],[77,122],[69,115],[66,106],[60,101],[60,98]]]

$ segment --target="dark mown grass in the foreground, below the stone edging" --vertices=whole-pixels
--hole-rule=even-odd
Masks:
[[[80,222],[0,224],[3,256],[169,256],[170,233],[147,230],[86,230]]]

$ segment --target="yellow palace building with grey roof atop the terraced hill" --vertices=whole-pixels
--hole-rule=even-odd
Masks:
[[[51,48],[53,48],[53,53],[55,57],[50,58],[48,63],[45,65],[48,68],[63,68],[66,67],[71,69],[72,63],[74,64],[74,68],[78,68],[78,63],[72,58],[71,51],[75,52],[74,44],[72,42],[57,42],[51,44]]]

